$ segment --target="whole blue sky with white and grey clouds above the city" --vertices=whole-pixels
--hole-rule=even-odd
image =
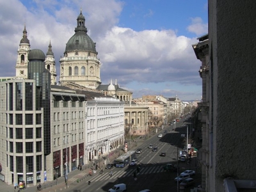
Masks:
[[[0,1],[0,77],[15,76],[24,25],[31,49],[60,57],[82,10],[96,43],[102,84],[117,81],[142,95],[200,100],[200,61],[192,45],[208,32],[207,0],[8,0]]]

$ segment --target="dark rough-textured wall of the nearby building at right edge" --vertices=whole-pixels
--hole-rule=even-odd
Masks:
[[[209,1],[213,163],[207,191],[224,191],[227,177],[256,179],[255,6],[253,0]]]

